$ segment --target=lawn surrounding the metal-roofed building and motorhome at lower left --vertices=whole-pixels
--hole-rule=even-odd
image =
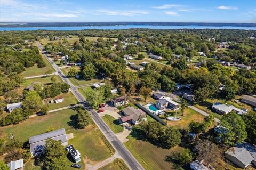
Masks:
[[[51,128],[65,128],[66,134],[73,133],[74,138],[68,141],[73,144],[76,149],[81,153],[82,169],[85,168],[86,161],[97,163],[98,161],[105,160],[114,154],[114,149],[106,140],[97,126],[92,122],[84,129],[74,129],[70,126],[70,116],[76,112],[71,109],[53,112],[45,116],[36,116],[22,122],[18,125],[11,125],[0,129],[0,134],[4,134],[6,140],[10,140],[11,133],[14,135],[15,140],[27,142],[30,136],[45,133],[47,129]],[[57,121],[58,120],[58,121]],[[71,165],[72,163],[66,159]],[[33,160],[25,165],[25,169],[40,169],[35,167]],[[63,169],[73,169],[70,166]]]

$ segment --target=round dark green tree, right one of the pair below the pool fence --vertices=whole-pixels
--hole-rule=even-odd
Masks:
[[[159,135],[159,145],[162,148],[170,149],[181,142],[181,133],[179,129],[172,126],[164,128],[162,134]]]

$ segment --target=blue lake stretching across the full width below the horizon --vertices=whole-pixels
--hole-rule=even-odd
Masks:
[[[83,30],[83,29],[130,29],[130,28],[148,28],[148,29],[244,29],[256,30],[256,27],[215,27],[215,26],[153,26],[153,25],[116,25],[116,26],[83,26],[83,27],[0,27],[0,31],[26,31],[26,30]]]

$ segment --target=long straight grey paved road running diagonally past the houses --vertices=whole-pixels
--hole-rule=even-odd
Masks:
[[[121,158],[125,161],[127,166],[130,169],[141,170],[144,169],[139,162],[133,157],[131,152],[127,150],[123,143],[116,137],[116,135],[111,131],[111,129],[107,126],[105,122],[100,118],[100,116],[95,112],[93,109],[89,108],[87,105],[86,100],[84,99],[83,95],[77,91],[77,88],[69,81],[69,79],[63,74],[60,68],[52,61],[52,59],[48,56],[48,54],[43,51],[43,48],[39,42],[36,42],[38,48],[42,51],[42,53],[46,56],[46,59],[52,64],[53,68],[58,72],[60,77],[64,82],[67,82],[70,85],[70,91],[76,96],[79,102],[84,104],[85,109],[89,110],[92,115],[92,119],[95,124],[99,127],[103,135],[107,138],[107,140],[111,143],[111,145],[115,148],[115,150],[119,153]]]

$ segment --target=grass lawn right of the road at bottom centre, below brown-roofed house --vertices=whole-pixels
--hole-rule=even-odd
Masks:
[[[132,132],[133,133],[133,132]],[[135,136],[128,136],[129,141],[125,142],[125,146],[132,155],[145,168],[150,170],[155,169],[171,169],[172,164],[165,161],[165,156],[169,155],[171,151],[180,150],[181,147],[174,147],[171,149],[157,148],[155,145],[137,140]]]

